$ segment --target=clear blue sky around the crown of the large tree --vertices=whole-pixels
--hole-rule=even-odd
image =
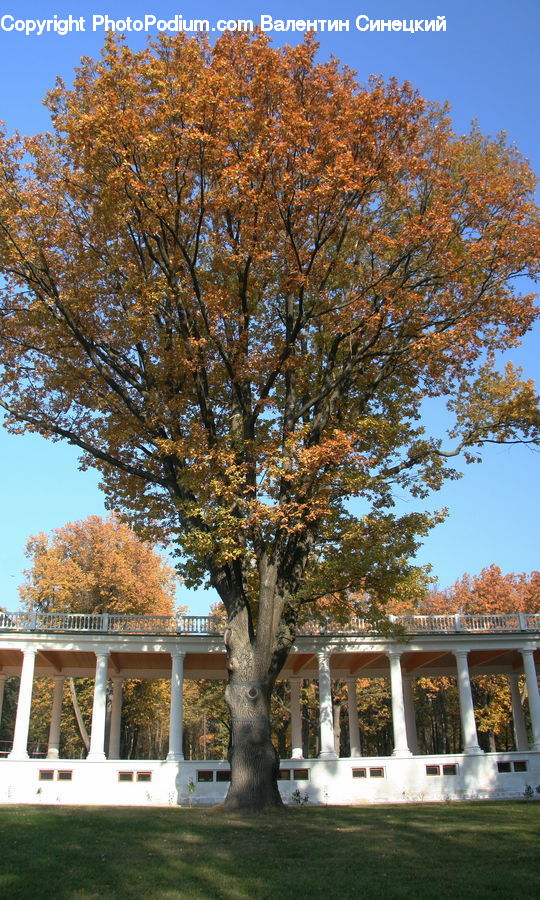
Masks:
[[[0,15],[52,18],[84,16],[84,33],[24,36],[0,30],[0,118],[9,132],[47,128],[42,106],[56,75],[69,80],[83,55],[99,53],[103,32],[92,33],[92,15],[107,10],[116,19],[156,14],[184,19],[274,18],[350,19],[351,30],[320,34],[321,54],[333,54],[354,68],[361,81],[371,73],[411,81],[426,97],[452,106],[456,129],[477,119],[483,132],[501,130],[540,172],[539,102],[540,0],[379,0],[379,2],[206,3],[132,2],[69,4],[40,2],[3,6]],[[424,19],[445,15],[446,33],[359,32],[358,14],[377,19]],[[9,24],[9,23],[8,23]],[[295,41],[300,34],[289,32]],[[276,42],[283,36],[274,34]],[[128,36],[140,44],[137,35]],[[540,329],[512,358],[540,382]],[[73,448],[34,436],[0,430],[0,605],[17,607],[17,586],[25,567],[29,535],[104,512],[95,473],[81,473]],[[488,449],[480,466],[435,495],[432,508],[448,506],[450,517],[426,539],[419,560],[430,562],[442,586],[463,572],[479,572],[494,562],[505,571],[540,568],[538,557],[540,455],[526,447]],[[398,498],[399,499],[399,498]],[[409,506],[403,499],[404,507]],[[180,589],[179,599],[204,613],[215,599],[207,592]]]

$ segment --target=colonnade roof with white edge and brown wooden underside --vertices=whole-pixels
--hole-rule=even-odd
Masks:
[[[540,626],[540,616],[532,618],[533,624]],[[110,677],[144,680],[170,678],[171,654],[178,651],[185,654],[186,678],[225,679],[227,674],[223,639],[216,632],[128,634],[98,629],[76,631],[28,627],[20,630],[12,626],[2,627],[0,620],[0,674],[20,674],[24,650],[29,648],[37,651],[37,677],[62,675],[92,678],[97,652],[108,653]],[[340,680],[387,677],[390,651],[401,654],[403,674],[412,677],[454,676],[454,654],[459,650],[468,654],[471,675],[511,674],[522,671],[523,660],[519,652],[522,649],[535,652],[536,661],[540,663],[539,648],[540,629],[531,627],[530,622],[528,628],[521,630],[503,630],[501,627],[498,630],[484,628],[483,631],[469,632],[462,629],[454,632],[424,630],[391,636],[352,630],[328,633],[327,629],[327,633],[304,634],[297,638],[280,678],[316,679],[318,654],[321,652],[330,654],[332,676]]]

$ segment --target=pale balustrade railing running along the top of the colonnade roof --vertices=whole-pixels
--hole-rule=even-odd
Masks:
[[[389,616],[405,634],[455,634],[540,631],[539,613],[505,615]],[[139,616],[103,613],[1,612],[0,631],[103,632],[121,634],[221,634],[225,628],[219,615]],[[367,619],[354,617],[346,624],[310,622],[298,629],[300,635],[374,634]]]

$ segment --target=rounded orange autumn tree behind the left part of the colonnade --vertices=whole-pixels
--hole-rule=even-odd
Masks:
[[[31,537],[26,555],[32,564],[19,592],[28,609],[161,616],[175,612],[174,570],[115,516],[90,516],[52,535]],[[53,687],[51,679],[38,679],[34,687],[30,742],[35,752],[47,749]],[[168,682],[128,679],[123,695],[121,755],[163,757],[168,741]],[[89,733],[92,700],[93,682],[72,679],[72,691],[66,690],[62,708],[61,752],[67,757],[85,752],[75,707]]]

